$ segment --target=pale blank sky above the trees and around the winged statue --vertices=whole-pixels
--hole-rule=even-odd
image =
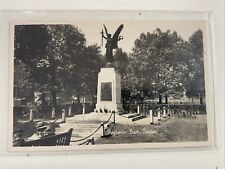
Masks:
[[[82,33],[85,34],[87,39],[87,45],[97,43],[101,45],[101,30],[103,29],[103,24],[106,25],[108,33],[114,34],[116,29],[120,24],[124,24],[124,28],[121,32],[123,40],[119,41],[118,47],[122,48],[125,52],[131,52],[134,47],[134,41],[137,39],[142,32],[153,32],[156,28],[160,28],[162,31],[167,29],[177,31],[183,39],[188,40],[188,38],[198,29],[203,30],[205,35],[206,23],[204,21],[122,21],[122,20],[90,20],[90,21],[76,21],[74,25],[80,29]],[[105,45],[105,41],[104,41]],[[103,53],[105,53],[104,46],[102,47]]]

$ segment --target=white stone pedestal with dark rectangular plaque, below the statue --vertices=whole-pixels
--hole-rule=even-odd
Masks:
[[[114,67],[101,68],[98,73],[97,104],[95,112],[123,112],[121,77]]]

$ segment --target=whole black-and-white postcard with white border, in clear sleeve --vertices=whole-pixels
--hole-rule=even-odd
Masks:
[[[206,19],[25,21],[10,37],[11,150],[213,145]]]

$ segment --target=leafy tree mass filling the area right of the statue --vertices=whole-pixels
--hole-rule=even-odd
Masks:
[[[200,90],[203,91],[203,44],[200,30],[188,42],[176,31],[162,32],[157,28],[153,33],[142,33],[135,40],[128,60],[123,86],[130,91],[131,96],[147,99],[163,94],[181,98],[185,91],[187,96],[194,92],[194,96],[197,96]]]

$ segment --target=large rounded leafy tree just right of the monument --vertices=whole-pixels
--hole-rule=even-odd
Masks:
[[[161,103],[162,94],[175,95],[183,90],[182,79],[187,70],[186,45],[177,32],[156,29],[153,33],[142,33],[129,55],[127,77],[133,93],[142,99],[158,94]]]

